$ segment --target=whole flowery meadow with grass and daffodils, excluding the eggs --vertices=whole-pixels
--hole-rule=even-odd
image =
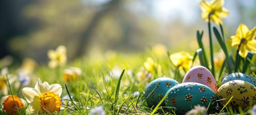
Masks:
[[[160,103],[148,106],[146,99],[150,95],[145,95],[145,88],[151,81],[167,77],[182,83],[185,74],[197,65],[210,70],[217,89],[224,77],[231,73],[240,72],[255,79],[256,26],[248,29],[245,24],[240,24],[236,35],[227,36],[221,19],[227,17],[229,11],[223,4],[224,0],[200,2],[208,30],[195,32],[198,50],[193,52],[173,53],[163,44],[155,44],[144,52],[109,50],[94,57],[82,56],[70,61],[69,49],[60,44],[56,49],[48,49],[45,56],[48,63],[25,58],[21,64],[5,66],[10,57],[2,58],[0,114],[174,115],[180,113],[170,109],[173,107],[160,105],[168,94],[159,99]],[[203,42],[203,36],[209,38],[209,46]],[[213,45],[213,39],[217,40],[218,46]],[[251,89],[254,87],[252,85]],[[251,101],[245,108],[229,106],[233,96],[217,97],[213,111],[207,111],[208,106],[193,106],[183,114],[255,115],[256,103],[253,101],[256,99],[249,96]],[[223,106],[222,100],[229,101]]]

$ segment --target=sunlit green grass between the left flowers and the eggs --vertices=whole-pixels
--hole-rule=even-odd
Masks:
[[[152,57],[155,62],[162,66],[162,74],[152,74],[154,77],[138,80],[136,75],[138,72],[146,72],[143,63],[147,57]],[[198,60],[197,58],[195,60]],[[199,61],[195,61],[194,65],[200,65]],[[64,69],[73,66],[79,67],[82,74],[77,80],[65,82],[63,80]],[[10,68],[10,73],[15,73],[15,67]],[[163,114],[168,115],[173,112],[166,111],[165,107],[157,106],[148,108],[145,101],[143,91],[147,84],[159,77],[169,77],[178,82],[182,82],[185,72],[182,70],[177,74],[175,67],[166,56],[158,57],[154,53],[116,53],[114,57],[97,57],[97,58],[78,58],[69,62],[63,67],[50,69],[46,64],[40,65],[31,75],[31,83],[28,87],[34,87],[37,78],[42,81],[47,81],[49,84],[58,83],[62,85],[63,92],[61,97],[68,95],[67,101],[69,105],[63,105],[63,109],[57,114],[60,115],[84,115],[88,114],[95,106],[102,106],[107,115],[118,114]],[[122,73],[120,76],[111,76],[110,72],[113,69],[119,70]],[[131,72],[132,73],[128,73]],[[218,71],[217,71],[218,72]],[[217,73],[216,72],[216,73]],[[221,80],[220,76],[219,80]],[[216,81],[218,87],[220,82]],[[14,90],[14,84],[10,84],[12,94],[22,97],[20,90]],[[20,87],[22,89],[25,86]],[[27,86],[26,86],[27,87]],[[139,95],[134,95],[134,92],[140,92]],[[72,98],[71,98],[72,97]],[[164,101],[164,100],[162,100]],[[135,109],[136,108],[136,109]],[[167,107],[168,108],[168,107]],[[136,111],[137,110],[137,111]],[[250,113],[250,110],[240,113]],[[136,113],[138,112],[138,113]],[[231,108],[216,108],[215,114],[231,114],[235,110]],[[25,114],[25,109],[21,109],[19,115]],[[0,114],[3,111],[0,111]]]

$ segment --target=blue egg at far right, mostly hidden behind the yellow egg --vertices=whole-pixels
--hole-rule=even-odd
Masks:
[[[225,78],[223,78],[223,80],[221,82],[221,85],[228,82],[228,81],[233,81],[233,80],[247,81],[247,82],[253,84],[254,86],[256,86],[256,80],[253,77],[248,76],[248,75],[243,74],[243,73],[239,73],[239,72],[227,75]]]

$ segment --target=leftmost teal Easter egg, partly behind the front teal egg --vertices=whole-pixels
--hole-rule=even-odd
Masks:
[[[164,97],[166,92],[173,87],[174,85],[179,84],[178,81],[175,81],[171,78],[162,77],[157,78],[151,81],[145,89],[145,98],[148,104],[148,107],[156,106],[160,100]],[[164,106],[164,103],[161,104]]]

